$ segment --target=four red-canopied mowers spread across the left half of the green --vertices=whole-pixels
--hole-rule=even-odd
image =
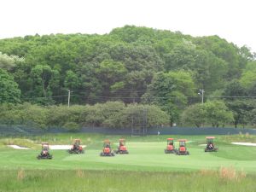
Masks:
[[[75,139],[73,141],[72,148],[68,149],[67,152],[69,154],[84,154],[84,148],[80,145],[81,140]],[[125,146],[125,139],[119,139],[119,147],[117,150],[112,150],[110,146],[110,141],[105,140],[103,143],[103,149],[101,152],[101,156],[114,156],[115,154],[129,154],[126,146]],[[49,154],[49,143],[42,143],[42,150],[41,153],[38,154],[38,160],[51,160],[52,155]]]

